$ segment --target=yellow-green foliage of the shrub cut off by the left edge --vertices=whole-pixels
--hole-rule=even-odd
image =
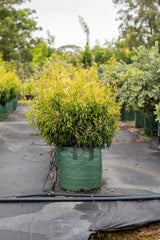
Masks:
[[[17,97],[20,80],[14,72],[6,71],[4,63],[0,62],[0,104],[4,105]]]

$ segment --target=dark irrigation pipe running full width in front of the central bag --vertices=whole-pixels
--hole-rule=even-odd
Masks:
[[[69,197],[69,198],[0,198],[0,203],[16,202],[109,202],[109,201],[146,201],[160,199],[160,195],[125,197]]]

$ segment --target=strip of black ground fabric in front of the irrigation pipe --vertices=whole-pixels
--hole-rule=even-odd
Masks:
[[[97,230],[160,221],[160,201],[0,205],[1,240],[87,240]]]

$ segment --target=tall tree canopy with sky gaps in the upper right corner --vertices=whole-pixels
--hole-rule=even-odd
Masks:
[[[145,45],[160,44],[159,0],[113,0],[119,7],[121,35],[130,49]]]

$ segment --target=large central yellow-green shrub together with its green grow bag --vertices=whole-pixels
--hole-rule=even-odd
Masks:
[[[27,112],[32,125],[57,148],[60,186],[80,191],[101,186],[101,149],[116,133],[116,92],[100,82],[95,67],[67,68],[48,62]]]

